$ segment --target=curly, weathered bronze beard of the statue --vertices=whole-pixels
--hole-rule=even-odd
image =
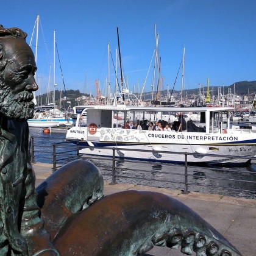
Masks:
[[[13,94],[10,88],[0,89],[0,115],[16,121],[24,121],[34,116],[33,93],[21,91]]]

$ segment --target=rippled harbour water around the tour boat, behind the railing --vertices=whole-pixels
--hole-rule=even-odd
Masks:
[[[65,132],[43,133],[42,128],[30,128],[35,137],[35,159],[52,163],[52,144],[65,141]],[[75,157],[74,153],[74,157]],[[88,157],[101,169],[105,180],[112,180],[112,159]],[[66,160],[65,163],[72,160]],[[116,181],[182,190],[184,165],[146,161],[116,160]],[[189,191],[256,199],[256,161],[247,166],[188,166]],[[221,187],[221,188],[219,188]],[[231,189],[231,190],[230,190]],[[248,190],[247,191],[238,191]]]

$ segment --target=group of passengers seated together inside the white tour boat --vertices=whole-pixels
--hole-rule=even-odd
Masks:
[[[177,121],[174,121],[173,123],[168,123],[165,120],[158,120],[158,121],[140,121],[137,120],[137,122],[133,123],[133,121],[126,121],[126,124],[124,124],[123,129],[137,129],[137,130],[158,130],[158,131],[176,131],[176,132],[182,132],[187,130],[187,122],[183,118],[182,115],[180,115],[179,119]]]

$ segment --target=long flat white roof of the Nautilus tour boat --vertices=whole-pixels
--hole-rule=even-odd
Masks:
[[[219,112],[219,111],[234,111],[233,107],[143,107],[143,106],[127,106],[127,105],[79,105],[74,107],[74,113],[82,114],[85,110],[114,110],[114,111],[144,111],[144,112]]]

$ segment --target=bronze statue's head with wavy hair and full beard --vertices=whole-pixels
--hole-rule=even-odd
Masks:
[[[34,115],[33,91],[37,70],[27,34],[0,25],[0,117],[24,121]]]

